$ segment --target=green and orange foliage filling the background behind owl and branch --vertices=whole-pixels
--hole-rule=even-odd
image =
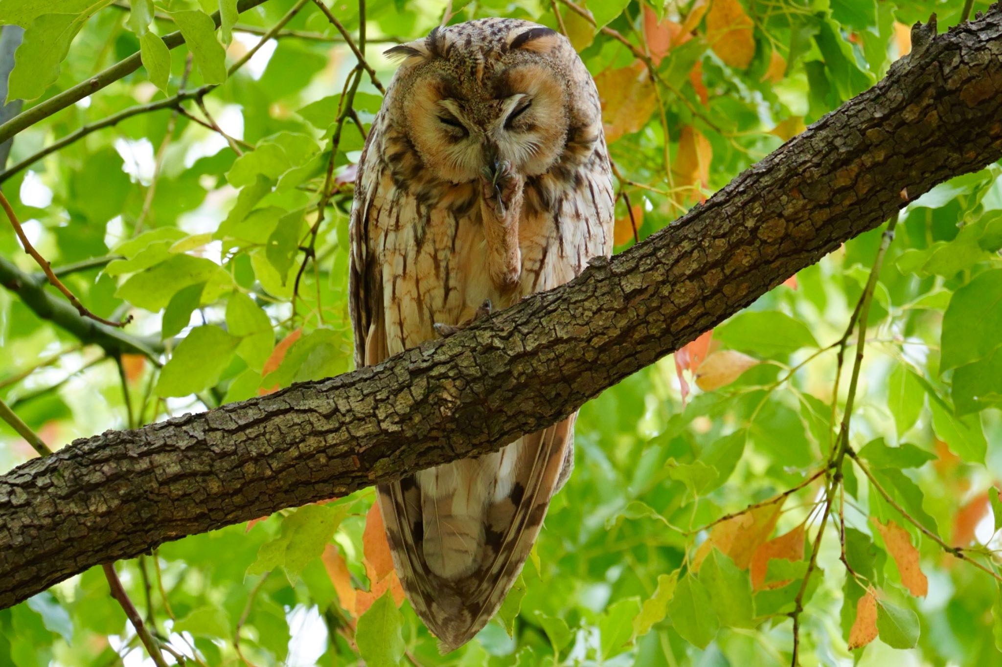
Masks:
[[[987,7],[322,4],[340,27],[307,0],[0,0],[26,29],[9,79],[26,106],[145,63],[17,134],[0,173],[86,307],[134,317],[120,354],[33,310],[27,287],[61,296],[0,220],[0,399],[50,446],[353,368],[348,211],[382,52],[443,20],[568,34],[603,100],[619,250],[873,85],[917,20]],[[190,46],[167,51],[178,28]],[[805,665],[998,664],[1000,172],[910,202],[882,261],[864,234],[586,405],[532,558],[455,653],[403,602],[372,490],[165,544],[117,564],[124,588],[166,664],[789,664],[791,613]],[[32,456],[0,424],[0,470]],[[95,568],[0,611],[0,664],[153,663]]]

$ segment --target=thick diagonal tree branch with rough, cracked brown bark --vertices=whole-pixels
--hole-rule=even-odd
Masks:
[[[549,426],[906,201],[1002,155],[1002,6],[940,35],[674,224],[377,367],[0,478],[0,608],[95,564]]]

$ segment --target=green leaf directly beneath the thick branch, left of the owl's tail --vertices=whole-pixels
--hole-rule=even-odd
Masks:
[[[263,574],[281,567],[289,580],[296,583],[307,564],[324,553],[348,510],[345,505],[308,505],[288,515],[282,520],[282,534],[262,545],[247,574]],[[361,632],[361,619],[359,624]]]

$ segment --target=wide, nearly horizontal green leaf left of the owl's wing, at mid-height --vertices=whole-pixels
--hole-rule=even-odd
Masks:
[[[210,259],[175,254],[166,261],[131,276],[118,287],[115,296],[156,312],[180,289],[197,282],[209,282],[205,289],[211,293],[209,287],[217,292],[217,285],[231,284],[232,279],[229,273]]]

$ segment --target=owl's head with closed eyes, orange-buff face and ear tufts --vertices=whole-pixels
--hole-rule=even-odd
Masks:
[[[600,111],[589,99],[591,78],[567,39],[549,28],[480,19],[387,53],[403,63],[385,104],[426,178],[468,182],[504,162],[538,175],[561,160],[582,124],[594,134]],[[597,126],[600,132],[600,119]]]

